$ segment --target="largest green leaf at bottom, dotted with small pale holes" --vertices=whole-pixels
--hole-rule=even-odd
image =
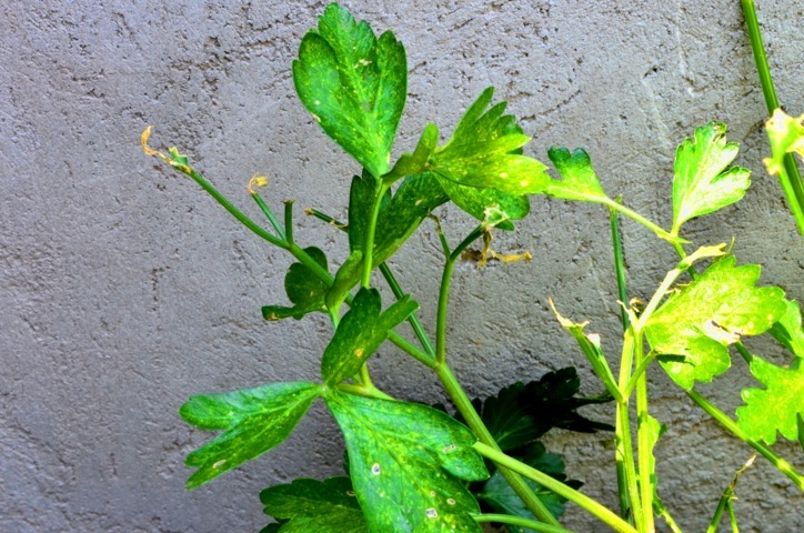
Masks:
[[[474,435],[425,405],[331,390],[358,501],[371,531],[480,533],[478,502],[461,480],[488,477]]]

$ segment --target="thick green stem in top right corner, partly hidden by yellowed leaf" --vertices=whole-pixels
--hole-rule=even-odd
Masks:
[[[748,39],[751,40],[751,49],[754,51],[754,61],[756,62],[756,72],[760,74],[760,84],[762,93],[765,97],[765,105],[767,107],[768,117],[780,108],[776,98],[776,89],[773,86],[773,77],[771,76],[771,67],[765,54],[765,47],[762,42],[762,32],[760,22],[756,19],[756,7],[753,0],[742,0],[743,14],[745,16],[745,26],[748,30]],[[798,165],[792,153],[784,155],[784,170],[778,173],[778,180],[787,198],[787,203],[793,212],[798,231],[804,235],[804,182],[802,182]]]

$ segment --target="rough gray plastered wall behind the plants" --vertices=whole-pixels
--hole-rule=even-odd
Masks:
[[[754,170],[737,207],[689,224],[697,243],[736,235],[740,262],[804,298],[802,242],[775,179],[765,175],[765,117],[738,2],[345,0],[406,47],[410,98],[396,152],[426,121],[449,134],[485,87],[510,102],[546,161],[553,144],[587,149],[611,195],[670,225],[675,147],[694,127],[728,123]],[[290,62],[324,2],[14,1],[0,7],[0,531],[255,531],[260,489],[340,472],[342,441],[321,404],[280,449],[190,493],[182,465],[212,435],[177,409],[191,394],[315,379],[330,333],[322,318],[267,323],[284,302],[290,259],[261,242],[184,177],[145,158],[178,144],[221,191],[259,219],[245,191],[269,173],[275,210],[295,199],[297,235],[334,262],[345,240],[301,214],[343,218],[358,169],[299,103]],[[781,101],[804,111],[803,7],[761,2]],[[494,248],[534,260],[456,272],[449,350],[471,395],[589,364],[556,324],[591,320],[615,359],[617,305],[607,213],[533,199],[532,214]],[[454,240],[472,224],[439,215]],[[672,250],[623,223],[632,295],[650,296]],[[424,223],[393,262],[434,323],[441,262]],[[384,346],[373,365],[388,392],[444,400],[421,365]],[[742,362],[735,365],[744,370]],[[733,413],[750,381],[733,372],[703,390]],[[654,414],[660,490],[687,531],[703,531],[751,451],[710,421],[659,369]],[[609,415],[610,408],[600,410]],[[555,432],[569,472],[615,506],[612,435]],[[780,452],[804,467],[791,443]],[[744,531],[790,532],[804,499],[758,460],[738,486]],[[566,524],[604,531],[576,509]],[[743,531],[743,530],[741,530]]]

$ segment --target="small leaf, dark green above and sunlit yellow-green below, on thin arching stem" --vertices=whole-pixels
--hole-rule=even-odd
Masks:
[[[563,181],[550,182],[546,191],[549,197],[581,202],[611,201],[594,173],[592,160],[582,148],[570,153],[566,148],[553,147],[547,151],[547,157],[563,178]]]

